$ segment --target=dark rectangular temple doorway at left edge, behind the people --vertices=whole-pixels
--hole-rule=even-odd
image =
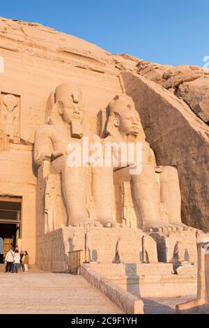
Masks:
[[[0,263],[21,238],[21,205],[20,197],[0,197]]]

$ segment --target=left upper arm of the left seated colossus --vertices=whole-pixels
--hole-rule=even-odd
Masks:
[[[34,137],[34,159],[37,166],[52,155],[52,126],[40,126]]]

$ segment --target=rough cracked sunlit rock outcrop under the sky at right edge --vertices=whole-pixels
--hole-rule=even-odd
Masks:
[[[209,122],[209,75],[199,66],[153,64],[139,61],[138,73],[183,99],[206,123]]]

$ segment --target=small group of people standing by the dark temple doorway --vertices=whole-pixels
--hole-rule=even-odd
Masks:
[[[5,257],[6,274],[18,274],[19,270],[26,274],[29,271],[29,254],[26,251],[19,252],[18,248],[11,246]]]

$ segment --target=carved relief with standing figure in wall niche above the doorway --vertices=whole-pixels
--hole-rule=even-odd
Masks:
[[[20,96],[1,92],[0,151],[9,150],[10,142],[20,142]]]

